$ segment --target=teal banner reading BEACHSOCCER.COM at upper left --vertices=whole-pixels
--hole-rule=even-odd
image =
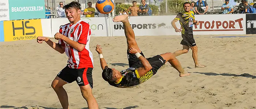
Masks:
[[[44,0],[9,0],[10,20],[45,18]]]

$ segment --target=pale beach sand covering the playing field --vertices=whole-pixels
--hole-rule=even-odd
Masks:
[[[124,36],[91,37],[93,52],[93,94],[102,109],[255,109],[256,37],[255,35],[195,35],[199,62],[207,68],[194,68],[192,51],[178,56],[191,76],[179,77],[166,64],[148,81],[134,88],[115,88],[101,77],[97,44],[109,67],[128,68]],[[211,38],[212,37],[212,38]],[[54,39],[52,39],[54,40]],[[56,41],[56,40],[55,40]],[[139,48],[146,57],[182,48],[181,36],[138,36]],[[57,41],[56,41],[57,42]],[[67,56],[36,40],[0,43],[1,108],[61,108],[51,88],[54,77],[63,69]],[[70,109],[87,109],[76,82],[64,85]]]

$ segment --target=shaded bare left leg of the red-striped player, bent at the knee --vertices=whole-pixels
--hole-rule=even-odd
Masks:
[[[60,104],[63,109],[69,109],[68,106],[68,94],[66,90],[63,88],[63,85],[67,84],[64,80],[56,76],[54,80],[52,81],[52,88],[56,92]]]

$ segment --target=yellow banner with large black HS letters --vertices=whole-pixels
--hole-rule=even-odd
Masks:
[[[36,39],[42,35],[41,19],[4,21],[4,41]]]

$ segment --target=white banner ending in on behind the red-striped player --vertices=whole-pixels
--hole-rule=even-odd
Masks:
[[[111,36],[109,20],[108,17],[84,17],[81,18],[86,23],[90,24],[91,36]],[[112,21],[112,19],[111,19]],[[59,32],[62,25],[69,23],[67,18],[56,18],[52,19],[52,37],[55,33]]]

